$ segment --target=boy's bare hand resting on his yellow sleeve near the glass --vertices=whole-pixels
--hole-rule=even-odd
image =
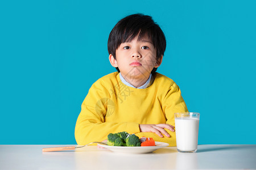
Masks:
[[[175,131],[174,126],[169,124],[140,124],[139,125],[139,129],[141,130],[141,132],[152,132],[159,135],[159,137],[161,138],[163,138],[162,134],[164,134],[166,137],[171,137],[170,134],[168,134],[167,131],[164,130],[164,128],[169,129],[171,131]]]

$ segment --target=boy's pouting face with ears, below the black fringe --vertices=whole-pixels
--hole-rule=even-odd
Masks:
[[[138,36],[130,42],[123,42],[115,50],[115,55],[116,59],[110,54],[110,63],[118,67],[127,79],[147,79],[152,69],[159,67],[162,62],[162,57],[156,61],[156,49],[151,40],[144,38],[138,41]]]

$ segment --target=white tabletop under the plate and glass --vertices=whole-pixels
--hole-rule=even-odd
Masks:
[[[195,154],[176,147],[151,154],[119,154],[97,146],[42,152],[58,146],[71,145],[0,145],[0,169],[256,169],[256,145],[199,145]]]

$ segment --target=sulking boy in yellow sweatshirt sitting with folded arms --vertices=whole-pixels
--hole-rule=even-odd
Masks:
[[[127,131],[176,146],[174,113],[188,110],[176,83],[155,72],[165,49],[164,33],[151,16],[134,14],[115,25],[108,51],[117,72],[98,79],[85,97],[75,128],[78,145]]]

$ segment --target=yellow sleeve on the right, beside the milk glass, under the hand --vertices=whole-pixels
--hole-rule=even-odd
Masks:
[[[166,124],[175,126],[174,113],[177,112],[188,112],[187,106],[183,97],[181,96],[180,88],[176,83],[172,84],[170,90],[167,92],[167,95],[162,100],[162,110],[166,115],[167,121]],[[170,129],[163,128],[170,137],[163,135],[163,137],[159,137],[156,133],[151,132],[140,132],[137,133],[139,138],[151,137],[154,138],[155,141],[158,142],[166,142],[169,143],[170,146],[176,146],[176,134],[175,131],[171,131]]]

